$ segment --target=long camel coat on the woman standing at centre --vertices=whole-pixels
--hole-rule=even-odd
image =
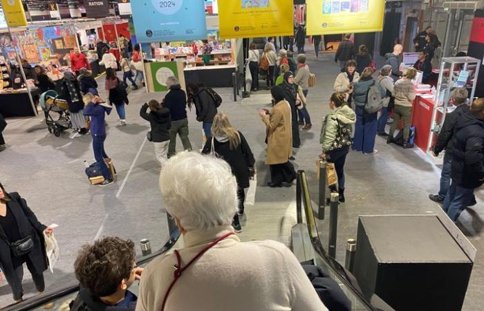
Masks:
[[[292,156],[292,127],[289,103],[285,100],[278,102],[270,116],[262,117],[267,126],[267,155],[266,164],[282,164]]]

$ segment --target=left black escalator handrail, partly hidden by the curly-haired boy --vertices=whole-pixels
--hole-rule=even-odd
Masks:
[[[174,229],[174,232],[171,233],[169,236],[168,240],[166,241],[165,245],[158,249],[158,251],[149,254],[147,256],[140,256],[137,260],[136,263],[137,265],[143,265],[155,258],[156,256],[160,256],[162,254],[165,254],[168,252],[171,247],[173,247],[176,242],[178,241],[178,238],[180,238],[180,232],[178,231],[178,228]],[[74,292],[79,291],[79,281],[73,280],[72,283],[69,285],[64,286],[61,289],[53,290],[50,292],[46,292],[44,294],[40,294],[38,296],[34,296],[32,298],[26,299],[25,301],[22,301],[21,303],[15,303],[12,305],[8,305],[7,307],[1,309],[3,311],[29,311],[35,308],[39,308],[43,305],[46,305],[47,303],[50,303],[53,300],[61,299],[64,296],[67,296],[69,294],[73,294]]]

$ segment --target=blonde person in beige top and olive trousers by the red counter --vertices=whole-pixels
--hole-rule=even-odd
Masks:
[[[395,93],[395,114],[393,123],[390,127],[390,133],[387,138],[387,144],[393,142],[393,133],[400,122],[403,120],[403,148],[411,148],[409,145],[410,119],[413,100],[415,100],[415,91],[411,80],[417,75],[416,68],[410,67],[404,70],[402,79],[395,82],[393,92]]]

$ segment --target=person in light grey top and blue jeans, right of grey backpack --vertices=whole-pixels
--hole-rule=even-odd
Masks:
[[[382,94],[382,111],[380,112],[380,117],[378,117],[378,125],[376,133],[379,136],[387,136],[385,133],[385,126],[387,125],[388,117],[390,115],[391,109],[393,109],[393,102],[395,98],[395,91],[393,91],[393,79],[391,78],[391,65],[385,65],[380,69],[380,76],[377,79],[380,83],[382,89],[385,91]],[[390,104],[391,103],[391,104]]]

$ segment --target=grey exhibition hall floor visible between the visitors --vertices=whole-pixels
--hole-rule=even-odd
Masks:
[[[315,160],[319,156],[319,132],[322,118],[328,113],[328,98],[339,72],[334,55],[316,58],[307,46],[308,65],[317,76],[317,85],[308,95],[308,111],[313,129],[301,131],[301,148],[295,151],[297,169],[308,173],[311,196],[317,199]],[[377,57],[377,62],[379,59]],[[103,79],[99,81],[104,84]],[[102,88],[102,87],[101,87]],[[271,189],[265,156],[265,129],[257,110],[270,106],[268,91],[253,93],[249,99],[233,102],[232,89],[217,90],[223,97],[219,111],[230,116],[234,126],[248,139],[257,160],[258,187],[256,204],[246,207],[242,219],[243,241],[272,238],[288,244],[290,227],[295,224],[295,187]],[[91,162],[91,137],[66,132],[55,138],[48,133],[41,117],[9,119],[4,132],[8,150],[0,153],[0,180],[10,191],[19,191],[37,217],[46,225],[57,223],[56,237],[62,258],[55,273],[46,272],[48,290],[59,288],[73,277],[73,261],[77,249],[97,236],[118,235],[151,238],[156,249],[167,238],[167,222],[158,189],[158,163],[153,147],[145,142],[149,124],[139,117],[140,106],[162,93],[133,91],[127,106],[127,126],[118,124],[113,111],[107,118],[106,152],[118,170],[118,182],[109,187],[89,185],[84,175],[83,160]],[[201,124],[194,111],[189,113],[190,139],[194,148],[201,148]],[[73,137],[75,136],[75,137]],[[181,148],[180,141],[177,144]],[[387,145],[377,138],[375,156],[351,152],[346,162],[346,203],[340,205],[337,259],[344,262],[347,238],[355,238],[357,217],[364,214],[427,214],[438,205],[427,196],[438,191],[440,170],[418,149],[404,150]],[[129,176],[128,176],[129,173]],[[482,228],[484,212],[479,209],[484,194],[477,192],[478,205],[464,211],[460,228],[478,249],[463,310],[481,310],[484,293],[484,249]],[[319,221],[322,241],[327,241],[328,220]],[[30,274],[26,272],[24,287],[35,294]],[[0,306],[11,303],[10,288],[0,283]]]

